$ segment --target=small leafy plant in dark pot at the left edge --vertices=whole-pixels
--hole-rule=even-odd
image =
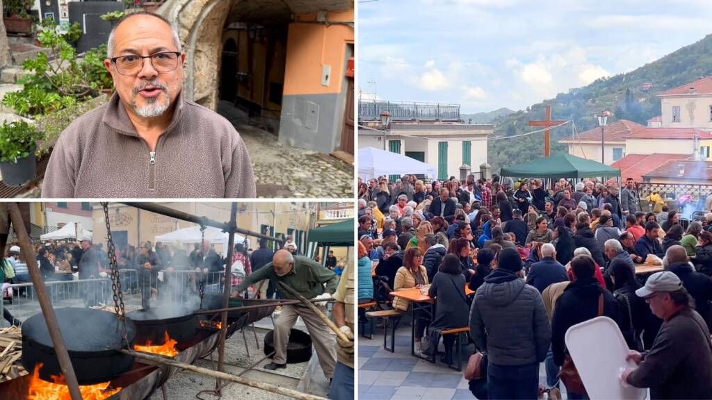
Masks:
[[[0,172],[7,186],[21,186],[37,172],[35,150],[42,133],[25,120],[0,126]]]

